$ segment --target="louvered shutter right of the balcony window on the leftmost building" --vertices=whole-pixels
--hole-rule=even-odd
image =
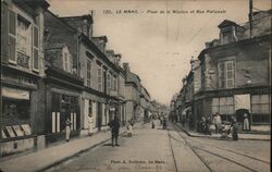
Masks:
[[[33,70],[39,70],[39,29],[33,26]]]

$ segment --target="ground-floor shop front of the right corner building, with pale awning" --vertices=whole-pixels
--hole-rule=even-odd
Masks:
[[[242,130],[248,121],[247,130],[271,131],[271,93],[268,87],[203,93],[195,97],[193,105],[196,121],[219,113],[222,121],[235,116]]]

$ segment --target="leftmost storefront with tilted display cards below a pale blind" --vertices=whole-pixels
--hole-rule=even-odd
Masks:
[[[37,76],[4,67],[1,81],[0,155],[35,146],[37,125]]]

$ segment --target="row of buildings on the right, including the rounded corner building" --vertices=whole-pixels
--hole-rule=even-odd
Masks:
[[[196,126],[218,112],[223,121],[234,115],[243,125],[247,113],[250,130],[271,130],[271,14],[251,12],[244,25],[224,20],[218,26],[219,38],[190,60],[171,101],[173,119],[185,118]]]

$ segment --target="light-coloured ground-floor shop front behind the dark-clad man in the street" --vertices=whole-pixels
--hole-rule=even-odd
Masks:
[[[110,97],[96,91],[83,91],[81,98],[82,135],[88,131],[108,130],[109,122],[116,115],[121,124],[125,124],[126,115],[124,102],[116,97]],[[89,128],[91,127],[91,128]]]

